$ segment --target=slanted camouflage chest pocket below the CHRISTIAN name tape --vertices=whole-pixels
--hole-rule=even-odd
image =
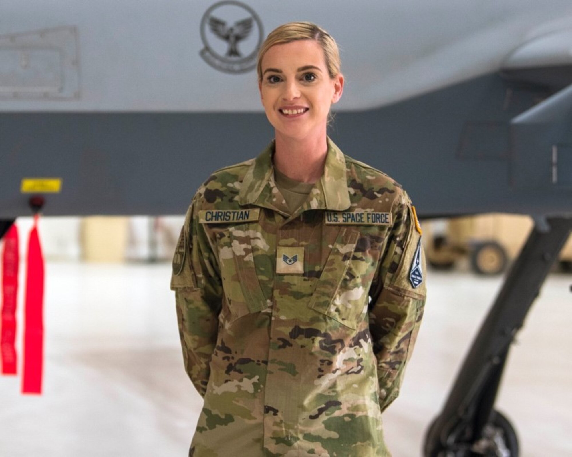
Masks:
[[[253,244],[264,244],[260,231],[241,224],[221,232],[219,260],[228,311],[235,319],[267,308],[254,263]]]

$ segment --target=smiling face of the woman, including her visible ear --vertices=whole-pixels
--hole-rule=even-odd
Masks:
[[[341,74],[329,77],[317,41],[275,45],[262,58],[260,97],[276,137],[325,139],[330,106],[340,99],[343,86]]]

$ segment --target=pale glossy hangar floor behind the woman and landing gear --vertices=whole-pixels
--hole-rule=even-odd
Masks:
[[[0,456],[186,455],[201,399],[183,370],[169,275],[167,264],[47,264],[44,392],[22,396],[19,377],[0,377]],[[510,354],[497,406],[522,457],[572,455],[571,283],[551,274]],[[420,455],[501,279],[430,271],[428,284],[402,394],[384,415],[395,457]]]

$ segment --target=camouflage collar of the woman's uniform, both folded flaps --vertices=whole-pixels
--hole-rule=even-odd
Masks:
[[[301,207],[303,210],[345,211],[350,206],[344,154],[329,137],[327,141],[328,152],[325,158],[324,174],[312,190],[311,197]],[[248,169],[239,192],[240,205],[276,207],[275,203],[267,201],[268,197],[274,195],[275,192],[272,192],[272,189],[263,192],[266,187],[275,187],[272,165],[274,148],[274,141],[272,141]]]

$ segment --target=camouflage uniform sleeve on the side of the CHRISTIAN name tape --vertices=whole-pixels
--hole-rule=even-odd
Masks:
[[[170,286],[175,291],[185,371],[204,397],[217,339],[222,287],[216,256],[194,207],[193,201],[173,256]]]

